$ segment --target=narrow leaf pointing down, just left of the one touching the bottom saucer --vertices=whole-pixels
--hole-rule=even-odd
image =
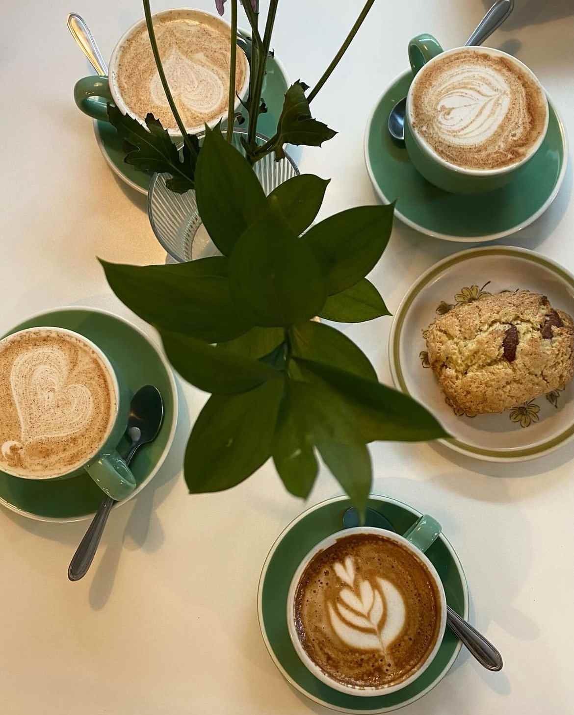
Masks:
[[[308,430],[306,401],[297,400],[301,385],[286,381],[273,437],[273,462],[291,494],[306,499],[317,476],[317,460]],[[303,385],[303,390],[307,386]]]

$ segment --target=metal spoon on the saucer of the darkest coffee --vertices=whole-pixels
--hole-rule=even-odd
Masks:
[[[361,526],[359,511],[357,511],[354,506],[351,506],[343,514],[343,526],[346,529],[352,526]],[[366,508],[365,523],[363,526],[376,526],[379,529],[396,531],[388,519],[382,514],[379,514],[378,511],[370,509],[369,507]],[[495,646],[487,641],[485,636],[482,636],[476,628],[472,628],[470,623],[467,623],[464,618],[461,618],[448,604],[447,626],[487,670],[500,671],[502,669],[502,656],[497,649],[495,649]]]

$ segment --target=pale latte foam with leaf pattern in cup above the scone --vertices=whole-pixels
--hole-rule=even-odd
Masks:
[[[547,117],[537,82],[505,56],[460,50],[415,79],[412,125],[434,152],[465,169],[500,169],[525,159]]]

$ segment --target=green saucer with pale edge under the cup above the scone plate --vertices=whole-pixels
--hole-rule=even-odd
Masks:
[[[482,242],[510,235],[542,215],[556,198],[566,173],[568,141],[550,98],[548,133],[527,169],[513,182],[486,194],[449,194],[417,172],[404,144],[391,138],[389,112],[412,82],[403,72],[382,94],[367,122],[366,169],[385,204],[397,199],[395,215],[412,228],[449,241]]]

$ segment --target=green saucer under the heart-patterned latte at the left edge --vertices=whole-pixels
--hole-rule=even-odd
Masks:
[[[140,492],[157,473],[167,456],[177,423],[177,389],[165,358],[149,338],[131,323],[110,312],[84,307],[66,307],[43,312],[16,325],[9,332],[26,327],[51,325],[67,327],[89,337],[110,358],[122,381],[133,394],[142,385],[155,385],[163,398],[165,415],[160,433],[132,462],[137,488],[122,502]],[[127,452],[127,440],[120,454]],[[40,521],[79,521],[97,510],[104,493],[86,473],[74,478],[32,480],[0,471],[0,503],[21,516]]]

